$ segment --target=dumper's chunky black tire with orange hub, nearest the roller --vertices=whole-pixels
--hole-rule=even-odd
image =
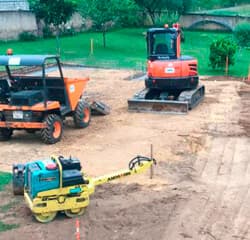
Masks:
[[[46,128],[41,129],[41,138],[47,144],[54,144],[61,140],[63,133],[63,122],[60,116],[56,114],[49,114],[45,117],[44,122],[47,124]],[[55,136],[55,124],[60,127],[60,132]]]

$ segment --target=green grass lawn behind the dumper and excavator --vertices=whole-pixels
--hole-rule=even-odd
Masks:
[[[81,33],[72,37],[62,37],[61,58],[64,62],[109,68],[132,68],[143,70],[146,66],[146,29],[121,29],[107,34],[107,47],[103,48],[101,33]],[[230,34],[213,32],[185,32],[182,54],[199,60],[200,75],[224,75],[208,66],[209,46],[214,39]],[[94,41],[94,54],[90,55],[90,39]],[[13,48],[16,54],[55,54],[55,39],[35,42],[0,42],[0,52]],[[236,64],[229,75],[245,77],[248,73],[250,51],[238,50]]]

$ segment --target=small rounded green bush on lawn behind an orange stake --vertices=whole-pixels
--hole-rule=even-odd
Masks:
[[[213,69],[224,68],[226,66],[226,59],[228,57],[228,66],[234,65],[234,54],[237,45],[230,38],[221,38],[214,40],[210,45],[210,65]]]

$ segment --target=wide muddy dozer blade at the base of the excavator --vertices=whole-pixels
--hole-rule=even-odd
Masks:
[[[188,112],[188,102],[132,98],[128,100],[128,110],[130,112],[186,114]]]

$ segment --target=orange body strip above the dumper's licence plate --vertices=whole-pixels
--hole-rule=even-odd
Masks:
[[[47,111],[52,109],[59,109],[60,103],[58,101],[48,101],[47,107],[44,107],[44,103],[37,103],[33,106],[10,106],[8,104],[0,104],[0,111],[3,110],[23,110],[23,111]]]

